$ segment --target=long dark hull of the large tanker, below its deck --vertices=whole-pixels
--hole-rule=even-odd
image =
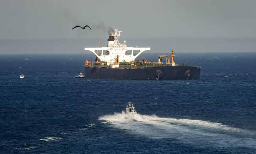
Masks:
[[[190,66],[161,66],[136,69],[85,67],[87,79],[123,80],[186,80],[200,79],[201,68]]]

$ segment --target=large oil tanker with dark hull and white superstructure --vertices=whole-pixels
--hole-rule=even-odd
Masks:
[[[135,60],[142,52],[150,48],[127,47],[126,41],[120,43],[118,37],[122,31],[108,38],[108,46],[102,48],[84,48],[95,54],[95,64],[85,61],[87,79],[124,79],[124,80],[191,80],[200,79],[200,67],[176,65],[168,55],[159,55],[158,62],[147,62],[146,59]],[[100,55],[98,54],[100,51]],[[134,55],[134,53],[137,53]],[[162,58],[165,57],[165,63]],[[170,62],[171,59],[171,62]]]

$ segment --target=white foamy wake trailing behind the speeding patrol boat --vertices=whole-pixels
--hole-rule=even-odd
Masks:
[[[256,149],[256,132],[228,127],[221,123],[140,114],[129,118],[124,112],[102,116],[99,119],[104,124],[110,124],[110,127],[146,138],[169,138],[181,143]]]

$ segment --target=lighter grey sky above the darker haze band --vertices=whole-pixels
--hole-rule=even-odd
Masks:
[[[115,28],[122,31],[123,40],[254,39],[255,8],[256,0],[1,0],[0,45],[5,50],[0,54],[18,40],[95,39],[95,47]],[[72,29],[77,25],[91,30]]]

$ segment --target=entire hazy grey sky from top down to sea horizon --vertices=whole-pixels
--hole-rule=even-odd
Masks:
[[[89,53],[115,28],[147,52],[256,52],[255,26],[256,0],[0,0],[0,54]]]

